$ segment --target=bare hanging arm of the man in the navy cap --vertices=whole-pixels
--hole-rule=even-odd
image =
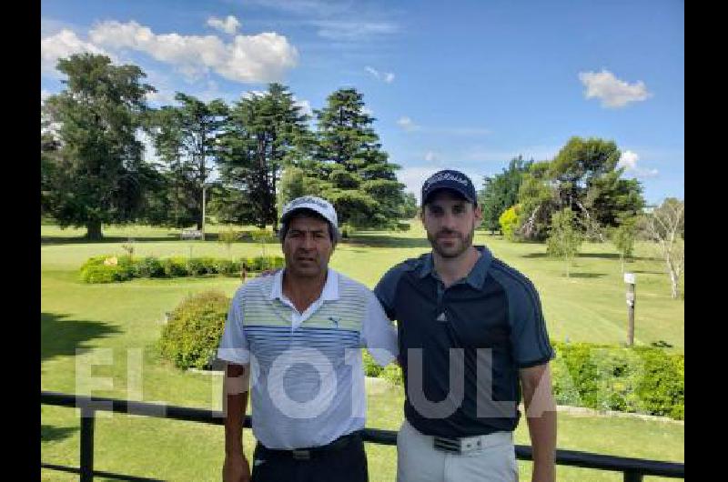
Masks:
[[[533,449],[533,482],[553,482],[556,457],[556,403],[549,364],[521,368],[521,387]]]

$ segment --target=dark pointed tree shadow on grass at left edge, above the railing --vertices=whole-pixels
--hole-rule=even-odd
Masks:
[[[40,314],[40,361],[56,356],[75,356],[76,350],[86,351],[87,342],[121,333],[116,326],[100,321],[67,319],[67,315]]]

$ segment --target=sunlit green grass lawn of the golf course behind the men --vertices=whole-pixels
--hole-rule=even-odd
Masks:
[[[209,231],[214,231],[210,228]],[[217,227],[219,229],[219,227]],[[228,254],[215,241],[179,241],[178,230],[147,226],[106,227],[107,239],[89,244],[83,230],[41,226],[41,387],[77,393],[76,375],[86,369],[106,378],[106,387],[93,395],[164,401],[186,407],[220,407],[216,377],[181,372],[157,355],[164,313],[185,296],[218,289],[231,296],[236,278],[177,278],[133,280],[113,285],[84,285],[78,267],[90,256],[124,254],[122,245],[134,237],[136,256],[258,256],[256,243],[236,243]],[[619,259],[610,245],[586,245],[572,266],[573,276],[562,276],[557,260],[545,257],[545,246],[512,244],[478,233],[496,256],[530,276],[541,293],[551,337],[563,341],[622,343],[626,334],[625,286]],[[428,250],[418,224],[407,233],[359,233],[337,247],[331,266],[368,286],[374,286],[389,266]],[[280,254],[270,244],[267,254]],[[635,338],[649,345],[664,340],[682,351],[684,302],[670,298],[668,277],[649,246],[638,246],[638,259],[627,269],[637,273]],[[95,349],[100,348],[99,352]],[[104,351],[105,350],[105,351]],[[108,365],[91,365],[98,354]],[[141,367],[141,383],[128,371]],[[402,394],[398,387],[369,392],[369,427],[396,429],[401,421]],[[42,459],[77,466],[76,409],[42,407]],[[559,447],[625,457],[682,461],[682,425],[625,418],[560,415]],[[252,437],[246,432],[246,447]],[[518,443],[528,443],[522,424]],[[119,473],[170,480],[217,480],[222,461],[222,427],[144,417],[114,415],[96,425],[96,467]],[[393,480],[393,447],[368,446],[371,480]],[[527,477],[530,463],[521,463]],[[43,471],[44,480],[76,477]],[[619,474],[583,469],[559,469],[559,480],[622,480]]]

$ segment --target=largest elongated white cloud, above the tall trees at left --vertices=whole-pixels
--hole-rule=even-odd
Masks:
[[[273,82],[298,64],[296,47],[275,32],[235,35],[225,43],[215,35],[157,35],[134,21],[106,21],[91,32],[92,41],[109,48],[130,48],[195,77],[210,69],[237,82]]]

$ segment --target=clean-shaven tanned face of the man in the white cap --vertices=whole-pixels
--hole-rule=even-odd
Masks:
[[[294,216],[283,240],[286,269],[295,276],[316,277],[329,269],[334,246],[329,223],[317,217]]]

